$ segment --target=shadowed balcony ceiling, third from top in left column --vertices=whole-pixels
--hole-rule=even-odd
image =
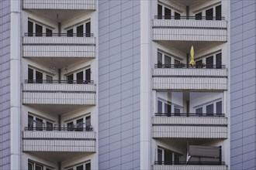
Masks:
[[[81,110],[81,109],[86,109],[91,106],[85,106],[85,105],[68,105],[68,104],[33,104],[29,105],[29,107],[33,107],[36,110],[40,110],[44,113],[48,114],[57,114],[57,115],[62,115],[62,114],[67,114],[69,112],[75,111],[75,110]]]

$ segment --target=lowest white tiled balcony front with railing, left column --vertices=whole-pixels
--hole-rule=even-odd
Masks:
[[[95,152],[95,139],[86,128],[25,128],[22,151]]]

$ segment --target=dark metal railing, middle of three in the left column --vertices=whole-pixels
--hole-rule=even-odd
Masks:
[[[94,84],[93,80],[25,80],[25,83]]]

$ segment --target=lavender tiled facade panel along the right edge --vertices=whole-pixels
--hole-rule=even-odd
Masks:
[[[230,3],[230,169],[256,169],[256,1]]]

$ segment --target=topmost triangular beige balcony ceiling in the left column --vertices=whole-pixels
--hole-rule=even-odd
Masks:
[[[30,10],[32,12],[35,12],[39,15],[42,15],[43,17],[47,19],[54,20],[55,22],[64,22],[68,19],[72,19],[75,16],[85,14],[88,12],[85,12],[85,10],[51,10],[51,9],[36,9],[36,10]]]

